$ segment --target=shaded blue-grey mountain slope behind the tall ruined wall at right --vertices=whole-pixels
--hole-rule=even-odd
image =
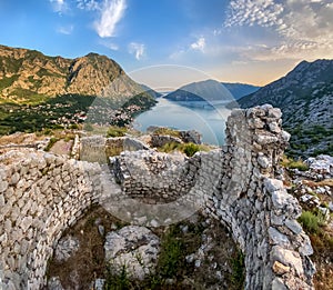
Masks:
[[[285,77],[239,100],[242,108],[281,108],[292,154],[333,156],[333,60],[302,61]]]

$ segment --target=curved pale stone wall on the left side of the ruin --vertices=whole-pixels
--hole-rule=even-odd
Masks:
[[[39,289],[62,232],[100,194],[100,167],[37,151],[0,163],[0,289]]]

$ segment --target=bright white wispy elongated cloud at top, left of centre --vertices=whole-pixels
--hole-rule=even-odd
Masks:
[[[127,9],[125,0],[104,0],[100,18],[94,22],[94,29],[101,38],[114,37],[115,27],[123,18]]]

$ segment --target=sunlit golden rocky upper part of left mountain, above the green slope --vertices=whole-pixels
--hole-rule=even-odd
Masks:
[[[128,98],[142,87],[105,56],[82,58],[47,57],[39,51],[0,46],[0,98],[14,102],[32,96],[68,93]]]

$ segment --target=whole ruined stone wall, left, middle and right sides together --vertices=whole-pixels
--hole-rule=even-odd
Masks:
[[[179,200],[195,203],[193,209],[229,227],[245,254],[246,289],[312,289],[312,247],[296,221],[301,208],[285,191],[279,168],[287,140],[279,109],[234,110],[221,149],[192,158],[152,150],[123,152],[111,159],[115,179],[110,178],[108,187],[118,181],[122,189],[118,198],[162,203],[167,209]],[[91,150],[100,158],[99,149],[104,154],[105,143],[101,138],[81,140],[81,154]],[[105,177],[97,163],[44,152],[1,157],[0,279],[4,289],[44,284],[47,260],[63,230],[101,196],[104,206],[108,190],[114,192],[102,186]]]

